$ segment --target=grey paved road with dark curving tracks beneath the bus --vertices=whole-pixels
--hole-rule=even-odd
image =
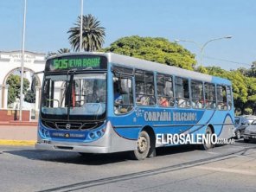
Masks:
[[[157,150],[131,161],[126,153],[76,153],[0,146],[1,191],[255,191],[256,144]]]

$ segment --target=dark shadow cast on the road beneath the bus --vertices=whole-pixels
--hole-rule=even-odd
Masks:
[[[237,141],[240,142],[240,141]],[[218,145],[216,147],[220,147]],[[186,153],[189,151],[198,150],[195,145],[179,145],[157,148],[157,157],[164,157],[173,155],[176,153]],[[33,148],[17,150],[16,148],[10,148],[10,150],[4,150],[4,153],[12,155],[26,157],[32,160],[57,162],[57,163],[75,163],[85,165],[102,165],[108,163],[120,163],[130,161],[129,152],[118,152],[112,154],[82,154],[67,151],[48,151],[48,150],[34,150]],[[147,160],[150,160],[147,159]],[[146,161],[147,161],[146,160]]]

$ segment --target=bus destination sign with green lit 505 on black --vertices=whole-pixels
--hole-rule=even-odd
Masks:
[[[50,59],[46,72],[68,71],[72,69],[106,69],[107,59],[99,55],[69,55]]]

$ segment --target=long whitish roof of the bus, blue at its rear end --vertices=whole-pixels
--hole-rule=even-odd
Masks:
[[[105,55],[109,62],[122,65],[125,67],[135,67],[145,71],[156,71],[161,74],[173,74],[179,77],[186,77],[193,80],[202,80],[205,82],[212,82],[217,84],[224,84],[231,86],[231,81],[223,79],[221,77],[216,77],[208,74],[201,74],[195,71],[189,71],[187,69],[182,69],[179,67],[168,66],[160,64],[153,61],[145,61],[142,59],[114,53],[102,53],[102,52],[78,52],[78,53],[67,53],[67,54],[57,54],[50,56],[48,59],[54,57],[65,56],[65,55],[80,55],[80,54],[95,54],[95,55]]]

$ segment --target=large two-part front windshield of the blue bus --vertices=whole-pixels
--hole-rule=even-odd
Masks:
[[[45,75],[42,118],[97,120],[104,118],[104,114],[106,74]]]

